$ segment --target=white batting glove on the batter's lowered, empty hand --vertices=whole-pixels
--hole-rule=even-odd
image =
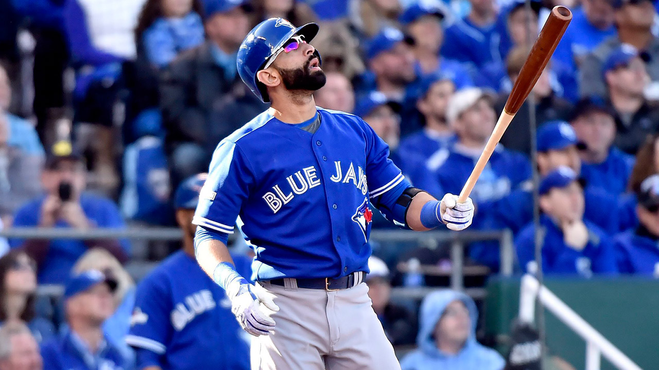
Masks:
[[[231,299],[231,312],[249,334],[268,335],[275,329],[275,321],[268,316],[267,311],[279,311],[274,298],[274,294],[259,284],[242,284]]]

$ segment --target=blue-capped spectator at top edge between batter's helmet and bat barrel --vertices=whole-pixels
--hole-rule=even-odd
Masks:
[[[451,76],[457,89],[473,86],[471,72],[462,63],[440,55],[444,41],[443,22],[449,16],[442,1],[426,0],[407,7],[399,19],[405,26],[405,33],[414,41],[412,49],[418,76],[443,73]]]

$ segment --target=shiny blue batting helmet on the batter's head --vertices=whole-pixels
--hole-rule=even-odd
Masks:
[[[258,81],[256,72],[261,70],[268,59],[290,40],[292,36],[304,36],[304,41],[311,41],[318,33],[318,24],[307,23],[295,28],[291,22],[283,18],[270,18],[254,27],[238,49],[238,74],[243,82],[260,97],[264,103],[270,101],[266,86]],[[320,63],[320,54],[315,52]]]

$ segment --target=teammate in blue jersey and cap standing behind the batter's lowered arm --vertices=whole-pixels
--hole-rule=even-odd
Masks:
[[[249,347],[222,288],[194,259],[194,207],[206,174],[185,180],[174,196],[183,248],[138,285],[126,342],[136,370],[249,369]],[[237,256],[236,256],[237,257]],[[249,273],[245,257],[234,259]]]

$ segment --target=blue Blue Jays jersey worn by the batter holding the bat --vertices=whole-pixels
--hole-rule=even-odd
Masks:
[[[252,280],[368,271],[369,199],[395,201],[410,186],[366,122],[318,115],[312,134],[265,111],[215,149],[192,222],[231,233],[240,216]]]

